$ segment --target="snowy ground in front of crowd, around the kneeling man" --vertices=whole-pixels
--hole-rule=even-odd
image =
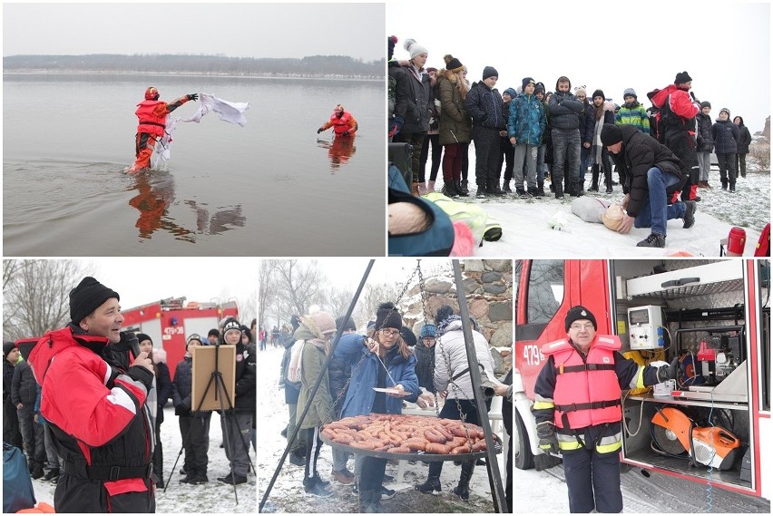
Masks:
[[[474,150],[470,150],[473,161]],[[475,180],[475,165],[470,163],[471,183]],[[613,176],[616,174],[613,173]],[[586,181],[590,181],[590,172]],[[572,200],[568,195],[556,200],[548,191],[543,199],[522,200],[507,195],[504,198],[477,200],[475,188],[471,197],[459,198],[464,202],[480,204],[496,219],[503,228],[502,239],[485,242],[475,251],[476,257],[513,257],[513,258],[640,258],[666,257],[678,252],[688,252],[692,256],[719,256],[719,240],[727,239],[733,226],[746,230],[746,248],[744,256],[753,256],[759,239],[759,233],[770,221],[770,172],[749,171],[746,178],[739,178],[736,193],[721,190],[719,170],[712,169],[709,184],[712,189],[699,189],[701,198],[695,214],[695,225],[682,229],[682,220],[670,220],[667,226],[668,237],[665,248],[637,248],[636,243],[647,238],[650,229],[631,229],[627,235],[621,235],[603,224],[584,222],[572,214]],[[512,183],[511,183],[512,185]],[[436,190],[440,190],[442,180],[438,180]],[[589,182],[585,183],[587,189]],[[603,190],[603,188],[602,188]],[[586,192],[586,195],[611,202],[620,202],[623,198],[620,186],[614,187],[612,194]],[[552,229],[551,219],[558,217],[567,221],[562,230]]]

